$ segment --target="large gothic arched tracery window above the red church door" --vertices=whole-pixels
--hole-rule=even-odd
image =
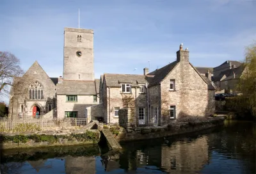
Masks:
[[[44,99],[44,88],[38,81],[29,85],[29,99]]]

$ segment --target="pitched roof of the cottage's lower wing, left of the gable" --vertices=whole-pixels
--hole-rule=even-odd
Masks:
[[[147,83],[145,75],[137,74],[104,74],[106,86],[119,87],[121,83],[131,83],[132,86]]]

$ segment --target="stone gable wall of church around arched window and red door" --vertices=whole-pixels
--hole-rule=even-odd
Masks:
[[[44,88],[44,99],[29,99],[29,86],[38,81]],[[40,108],[40,115],[49,112],[56,106],[56,85],[45,73],[37,61],[31,65],[28,71],[20,78],[15,78],[15,86],[12,86],[10,93],[9,116],[12,118],[19,117],[22,114],[28,118],[32,116],[33,106]],[[23,112],[22,112],[23,106]]]

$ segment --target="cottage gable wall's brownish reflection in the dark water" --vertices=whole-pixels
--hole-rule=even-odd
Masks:
[[[161,166],[169,173],[195,173],[209,162],[207,137],[162,146]]]

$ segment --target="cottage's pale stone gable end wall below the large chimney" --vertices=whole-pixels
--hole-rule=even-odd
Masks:
[[[169,90],[170,79],[175,79],[174,91]],[[181,61],[161,82],[161,100],[162,111],[164,107],[176,106],[176,118],[205,116],[209,112],[208,84],[188,61]]]

